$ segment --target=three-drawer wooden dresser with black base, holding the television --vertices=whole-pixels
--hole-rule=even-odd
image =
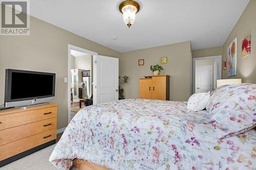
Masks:
[[[0,167],[55,143],[57,105],[0,111]]]

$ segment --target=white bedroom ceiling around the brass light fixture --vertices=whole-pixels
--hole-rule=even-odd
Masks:
[[[139,0],[129,29],[120,0],[33,0],[31,15],[118,52],[182,41],[193,50],[221,46],[249,0]],[[117,40],[112,40],[117,36]]]

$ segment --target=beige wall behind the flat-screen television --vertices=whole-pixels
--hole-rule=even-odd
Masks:
[[[99,55],[120,57],[120,53],[77,36],[47,22],[30,18],[30,36],[0,36],[0,105],[4,103],[5,69],[24,69],[56,73],[55,100],[58,129],[68,123],[68,44]]]

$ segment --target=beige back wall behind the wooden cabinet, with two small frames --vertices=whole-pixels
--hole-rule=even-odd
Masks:
[[[139,98],[139,78],[152,75],[150,65],[159,64],[159,58],[167,56],[167,64],[161,64],[161,74],[170,75],[170,100],[187,101],[190,95],[190,41],[146,48],[122,53],[120,76],[129,76],[124,86],[125,98]],[[138,65],[138,59],[144,59],[144,65]],[[160,65],[160,64],[159,64]]]

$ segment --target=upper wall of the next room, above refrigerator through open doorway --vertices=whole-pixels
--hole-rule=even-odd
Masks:
[[[91,55],[74,57],[74,68],[91,70]]]

